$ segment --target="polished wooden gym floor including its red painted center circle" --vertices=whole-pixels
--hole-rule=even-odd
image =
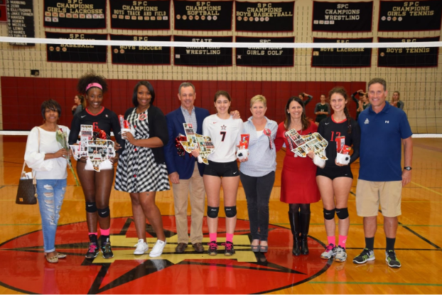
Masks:
[[[284,152],[270,201],[269,252],[255,255],[249,248],[247,203],[242,187],[237,198],[237,254],[226,258],[193,252],[176,254],[173,194],[157,194],[168,244],[161,257],[132,255],[136,243],[128,194],[112,191],[112,260],[84,258],[87,248],[82,189],[68,172],[68,190],[60,214],[56,245],[68,258],[58,264],[43,257],[38,206],[14,203],[26,137],[0,136],[0,293],[43,294],[441,294],[442,293],[442,139],[414,139],[412,182],[402,191],[396,249],[402,267],[385,263],[382,218],[374,241],[376,260],[355,265],[352,258],[365,246],[362,218],[355,211],[359,163],[349,196],[350,233],[345,263],[322,260],[327,237],[322,203],[311,206],[310,254],[291,255],[288,206],[279,201]],[[388,149],[386,147],[385,149]],[[296,190],[296,180],[293,180]],[[224,216],[221,209],[220,216]],[[190,211],[189,211],[190,214]],[[220,232],[224,221],[220,219]],[[150,247],[155,238],[146,228]],[[205,241],[207,225],[204,224]],[[220,234],[222,237],[223,234]],[[222,242],[224,238],[219,238]],[[207,249],[207,246],[205,246]],[[222,248],[220,248],[222,250]]]

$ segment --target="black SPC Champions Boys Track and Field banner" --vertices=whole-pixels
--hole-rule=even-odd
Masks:
[[[109,0],[111,28],[168,30],[171,1]]]

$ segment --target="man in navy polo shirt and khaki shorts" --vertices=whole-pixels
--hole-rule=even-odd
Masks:
[[[371,106],[360,113],[360,171],[356,188],[357,216],[364,217],[365,248],[353,259],[362,264],[374,260],[374,234],[377,231],[379,202],[387,238],[387,264],[400,268],[394,252],[397,216],[401,215],[401,190],[411,181],[413,143],[411,128],[404,111],[386,102],[387,83],[374,78],[368,83]],[[401,144],[404,144],[404,169],[401,168]]]

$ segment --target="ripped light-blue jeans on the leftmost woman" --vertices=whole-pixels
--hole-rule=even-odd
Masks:
[[[57,231],[65,191],[66,179],[37,180],[37,199],[40,208],[45,253],[55,251],[55,231]]]

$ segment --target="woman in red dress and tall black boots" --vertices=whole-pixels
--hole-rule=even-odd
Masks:
[[[320,199],[316,185],[316,165],[310,157],[296,157],[291,152],[284,134],[296,129],[301,136],[316,132],[318,127],[306,117],[304,103],[298,97],[291,97],[286,104],[286,120],[276,132],[276,151],[286,144],[286,157],[281,173],[281,201],[289,203],[289,220],[293,233],[293,255],[308,254],[308,226],[310,225],[310,203]],[[311,154],[308,154],[311,155]]]

